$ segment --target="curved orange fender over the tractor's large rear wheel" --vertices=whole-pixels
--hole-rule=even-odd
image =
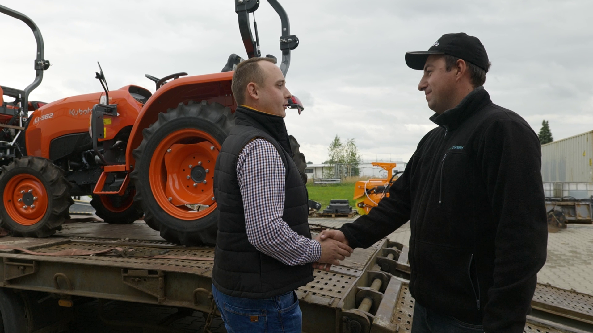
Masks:
[[[208,75],[186,76],[174,79],[162,85],[146,101],[138,118],[132,127],[126,149],[126,168],[132,169],[136,160],[132,155],[134,149],[142,142],[142,130],[157,121],[158,114],[166,113],[169,109],[176,108],[179,103],[187,104],[189,101],[200,103],[219,103],[230,107],[232,112],[237,108],[232,97],[231,81],[234,72],[213,73]]]

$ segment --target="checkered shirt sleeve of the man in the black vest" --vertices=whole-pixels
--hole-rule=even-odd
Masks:
[[[237,159],[237,180],[243,196],[247,239],[258,251],[286,265],[321,258],[318,241],[301,236],[282,220],[286,169],[272,143],[255,139]]]

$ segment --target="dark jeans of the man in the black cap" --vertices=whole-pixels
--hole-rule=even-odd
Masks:
[[[412,333],[484,333],[482,325],[467,324],[452,316],[441,315],[416,303]]]

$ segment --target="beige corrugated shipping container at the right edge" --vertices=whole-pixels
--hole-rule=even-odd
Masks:
[[[593,131],[541,146],[544,182],[593,182]]]

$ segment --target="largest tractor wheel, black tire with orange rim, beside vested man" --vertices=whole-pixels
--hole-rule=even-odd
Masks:
[[[134,200],[142,205],[146,224],[162,238],[182,245],[215,244],[218,208],[212,176],[234,124],[230,108],[190,101],[158,114],[158,120],[142,131],[144,139],[133,151],[136,167],[130,174]]]

